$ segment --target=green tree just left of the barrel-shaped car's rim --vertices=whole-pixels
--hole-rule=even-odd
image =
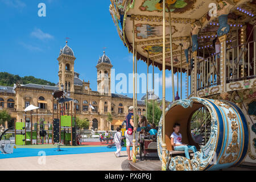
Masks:
[[[154,123],[156,124],[156,126],[158,126],[158,123],[160,121],[161,115],[162,115],[162,110],[160,109],[158,104],[155,102],[155,106],[154,106]],[[153,101],[152,100],[150,102],[148,102],[148,105],[147,105],[147,120],[150,123],[153,122]]]

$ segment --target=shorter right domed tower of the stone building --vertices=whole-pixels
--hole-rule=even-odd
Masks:
[[[97,68],[97,91],[101,95],[111,96],[110,81],[111,81],[111,68],[113,65],[108,56],[103,52],[96,65]]]

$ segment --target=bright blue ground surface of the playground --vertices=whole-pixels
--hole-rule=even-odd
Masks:
[[[88,154],[96,152],[114,152],[116,148],[107,147],[70,147],[61,148],[62,151],[56,151],[56,148],[14,148],[13,154],[0,154],[0,159],[7,158],[24,158],[31,156],[42,156],[42,152],[46,152],[47,155],[67,155],[67,154]],[[126,151],[126,147],[122,147],[121,151]]]

